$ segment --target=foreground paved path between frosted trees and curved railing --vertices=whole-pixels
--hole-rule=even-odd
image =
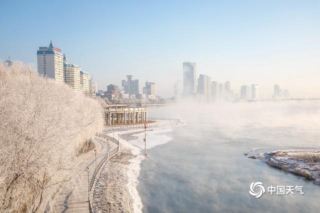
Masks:
[[[109,141],[109,147],[107,146],[107,141],[98,137],[94,137],[93,143],[96,150],[96,163],[98,164],[101,158],[111,150],[116,147],[116,144]],[[86,167],[89,167],[89,177],[95,168],[95,156],[94,151],[91,150],[77,159],[76,175],[72,177],[74,181],[67,182],[67,184],[62,186],[57,196],[57,204],[53,208],[52,212],[89,212],[88,208],[88,175],[85,171]],[[75,185],[76,190],[70,189],[71,186]]]

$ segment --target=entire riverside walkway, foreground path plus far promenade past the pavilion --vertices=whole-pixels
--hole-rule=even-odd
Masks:
[[[147,128],[155,127],[160,128],[163,126],[170,126],[170,125],[177,125],[181,122],[179,119],[171,119],[171,118],[148,118],[150,120],[155,120],[154,123],[146,124]],[[126,126],[117,126],[116,128],[108,127],[105,128],[104,131],[107,130],[116,130],[116,131],[127,131],[128,129],[135,129],[135,128],[143,128],[144,124],[140,125],[126,125]],[[112,137],[112,132],[108,132],[108,135]],[[114,134],[116,138],[117,134]],[[96,150],[96,164],[100,162],[100,160],[105,156],[105,154],[114,148],[117,147],[117,144],[111,142],[107,143],[107,140],[93,137],[93,143],[95,145]],[[108,146],[107,146],[108,144]],[[62,189],[54,195],[53,197],[57,197],[58,202],[54,206],[52,210],[48,210],[48,212],[89,212],[89,205],[88,205],[88,173],[85,171],[87,167],[90,168],[89,170],[89,177],[92,177],[92,174],[95,169],[95,155],[94,150],[91,150],[85,154],[80,155],[76,159],[74,176],[72,177],[72,181],[66,182],[64,185],[61,186]],[[91,190],[92,191],[92,190]]]

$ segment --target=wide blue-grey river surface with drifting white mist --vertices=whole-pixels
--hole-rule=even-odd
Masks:
[[[164,132],[169,143],[148,150],[138,177],[144,213],[317,212],[320,186],[249,155],[278,149],[320,149],[320,101],[181,103],[152,108],[186,126]],[[303,186],[304,195],[249,195],[264,187]]]

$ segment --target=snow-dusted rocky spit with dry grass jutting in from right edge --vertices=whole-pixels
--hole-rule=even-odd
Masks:
[[[259,159],[267,165],[305,177],[320,185],[320,151],[318,150],[277,150],[261,153],[249,158]]]

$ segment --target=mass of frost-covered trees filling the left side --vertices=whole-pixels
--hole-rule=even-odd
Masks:
[[[103,127],[101,104],[33,67],[0,63],[0,210],[43,212]]]

